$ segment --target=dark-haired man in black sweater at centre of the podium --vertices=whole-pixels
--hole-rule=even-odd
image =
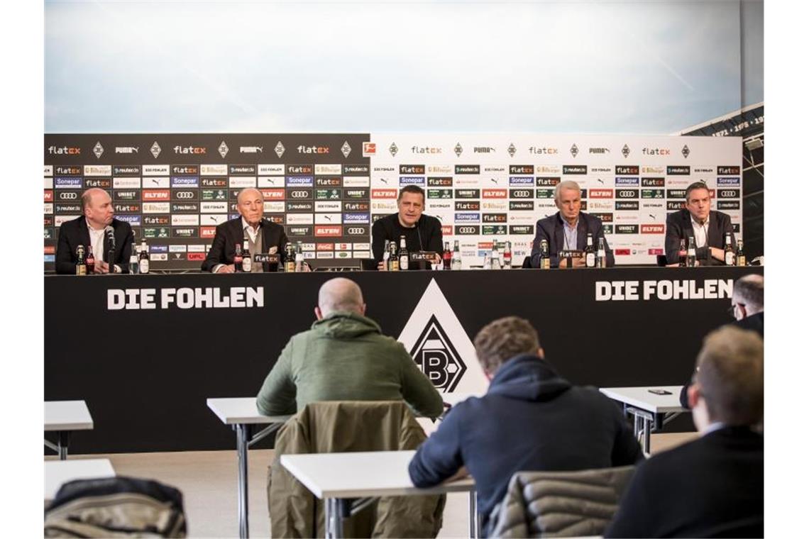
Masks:
[[[378,219],[371,227],[371,249],[377,267],[383,269],[385,240],[396,242],[398,250],[400,236],[404,236],[409,252],[434,251],[438,254],[436,262],[440,262],[443,252],[441,221],[421,213],[424,211],[424,189],[416,185],[403,187],[396,204],[399,206],[398,213]]]

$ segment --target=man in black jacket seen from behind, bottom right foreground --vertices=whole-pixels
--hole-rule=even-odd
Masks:
[[[764,342],[724,326],[697,367],[700,438],[637,467],[604,537],[764,537]]]

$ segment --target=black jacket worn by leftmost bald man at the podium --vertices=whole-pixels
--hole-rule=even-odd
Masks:
[[[129,253],[132,251],[132,242],[135,237],[132,227],[126,221],[112,219],[112,229],[115,230],[115,253],[112,263],[121,268],[121,272],[129,273]],[[59,242],[56,248],[56,272],[74,274],[76,272],[76,247],[83,245],[85,252],[90,245],[90,231],[87,229],[87,217],[79,216],[73,221],[66,221],[59,227]],[[109,263],[109,238],[104,234],[104,252],[93,253],[96,260]]]

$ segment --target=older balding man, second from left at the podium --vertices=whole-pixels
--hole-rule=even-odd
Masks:
[[[286,233],[282,225],[264,218],[264,196],[258,189],[248,187],[239,192],[236,209],[241,217],[226,221],[216,227],[214,243],[202,263],[203,272],[233,273],[233,255],[236,243],[244,246],[248,240],[250,255],[258,253],[278,254],[283,263],[286,248]],[[277,264],[253,264],[252,272],[275,272]]]

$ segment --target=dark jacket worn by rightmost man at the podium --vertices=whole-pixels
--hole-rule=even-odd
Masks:
[[[708,266],[724,266],[723,260],[711,257],[709,247],[722,249],[725,246],[725,233],[731,233],[731,244],[736,249],[736,237],[733,234],[731,216],[727,213],[711,210],[708,216],[708,242],[704,247],[697,247],[697,260]],[[688,237],[694,235],[691,224],[691,213],[680,209],[669,213],[666,217],[666,262],[673,264],[680,261],[680,240],[685,240],[688,248]]]

